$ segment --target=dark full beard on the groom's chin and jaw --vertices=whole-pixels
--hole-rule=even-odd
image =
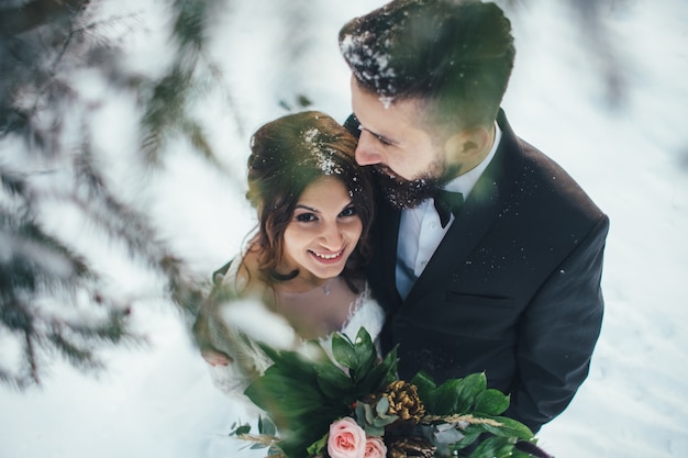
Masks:
[[[459,166],[443,167],[439,177],[430,174],[407,180],[391,169],[376,165],[373,172],[377,187],[387,201],[397,210],[414,209],[421,202],[434,197],[437,191],[459,175]]]

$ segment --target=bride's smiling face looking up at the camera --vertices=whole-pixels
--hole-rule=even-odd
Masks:
[[[320,279],[339,276],[356,248],[363,223],[344,183],[322,177],[308,186],[285,231],[284,270]]]

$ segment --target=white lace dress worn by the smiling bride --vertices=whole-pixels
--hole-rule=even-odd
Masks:
[[[242,291],[244,284],[237,278],[240,264],[232,262],[222,279],[223,287]],[[366,284],[351,304],[348,319],[340,332],[354,340],[360,327],[365,326],[373,340],[377,342],[384,320],[385,313],[370,298]],[[231,301],[211,313],[208,324],[212,346],[234,360],[229,366],[210,367],[213,382],[225,393],[242,399],[248,383],[271,365],[256,342],[284,349],[299,349],[304,345],[287,321],[268,311],[258,299]],[[332,336],[321,338],[320,344],[332,356]]]

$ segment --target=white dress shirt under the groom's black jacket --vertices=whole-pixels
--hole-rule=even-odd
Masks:
[[[466,174],[459,175],[450,181],[444,189],[447,191],[460,192],[464,200],[468,199],[473,187],[480,178],[490,164],[499,146],[501,139],[501,130],[495,123],[495,142],[490,153],[482,159],[477,167]],[[454,223],[454,215],[451,215],[450,223],[442,227],[440,216],[435,211],[433,199],[421,202],[414,209],[403,210],[401,212],[401,222],[399,224],[399,242],[397,246],[397,290],[401,298],[406,299],[413,288],[415,280],[421,276],[430,258],[442,242],[444,234]]]

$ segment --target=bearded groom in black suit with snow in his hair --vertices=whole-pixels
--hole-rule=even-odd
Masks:
[[[340,48],[356,159],[381,191],[369,282],[385,349],[400,344],[407,379],[485,371],[536,432],[588,375],[609,220],[500,109],[509,20],[493,3],[396,0],[344,25]]]

